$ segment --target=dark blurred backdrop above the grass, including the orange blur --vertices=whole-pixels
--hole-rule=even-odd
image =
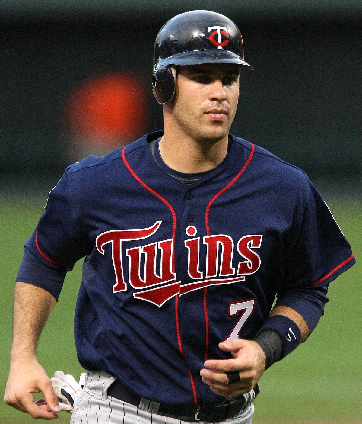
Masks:
[[[359,190],[360,0],[1,0],[1,186],[56,182],[80,157],[161,128],[153,43],[190,8],[234,20],[255,67],[241,75],[232,132]]]

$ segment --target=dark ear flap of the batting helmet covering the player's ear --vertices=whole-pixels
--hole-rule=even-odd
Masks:
[[[176,67],[161,65],[155,67],[152,75],[152,91],[158,103],[166,104],[174,98],[176,89]]]

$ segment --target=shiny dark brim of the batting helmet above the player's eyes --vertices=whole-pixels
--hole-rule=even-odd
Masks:
[[[249,63],[240,59],[238,55],[228,50],[205,49],[188,50],[182,53],[176,53],[165,59],[161,59],[157,66],[162,65],[201,65],[204,63],[234,63],[254,69]]]

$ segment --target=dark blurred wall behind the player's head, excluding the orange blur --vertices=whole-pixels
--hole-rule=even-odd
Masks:
[[[221,11],[221,10],[218,10]],[[162,126],[152,96],[152,49],[171,12],[130,17],[3,17],[0,27],[0,177],[51,172],[69,163],[62,113],[67,96],[101,73],[144,75],[146,131]],[[243,34],[240,103],[232,133],[312,175],[356,178],[362,170],[362,22],[351,16],[229,13]],[[130,140],[131,141],[131,140]]]

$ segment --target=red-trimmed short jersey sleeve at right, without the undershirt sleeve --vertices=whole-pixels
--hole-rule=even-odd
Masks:
[[[326,285],[355,262],[351,246],[309,181],[309,195],[301,218],[284,243],[280,297],[290,290]]]

